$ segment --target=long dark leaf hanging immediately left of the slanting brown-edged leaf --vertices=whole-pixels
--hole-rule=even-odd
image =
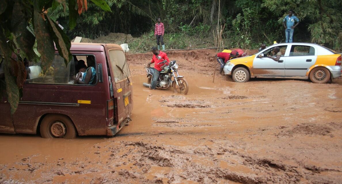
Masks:
[[[41,67],[43,72],[47,71],[55,56],[55,47],[53,44],[53,38],[49,31],[49,27],[41,14],[34,11],[35,18],[35,35],[37,39],[37,49],[41,54]]]

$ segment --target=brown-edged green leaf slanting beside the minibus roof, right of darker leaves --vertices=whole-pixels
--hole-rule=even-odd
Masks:
[[[50,23],[49,28],[53,41],[56,44],[56,48],[58,49],[59,54],[64,58],[65,65],[67,65],[73,57],[70,53],[70,40],[64,31],[55,22],[53,22],[49,16],[46,17]]]

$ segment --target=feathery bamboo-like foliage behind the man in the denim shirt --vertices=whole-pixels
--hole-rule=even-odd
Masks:
[[[308,20],[307,29],[311,33],[311,41],[325,44],[341,51],[342,40],[342,1],[341,0],[263,0],[265,7],[279,17],[278,23],[288,10],[293,9],[298,18]]]

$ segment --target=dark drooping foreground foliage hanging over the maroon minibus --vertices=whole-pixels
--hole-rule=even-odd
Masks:
[[[110,12],[104,0],[91,1]],[[4,76],[0,76],[0,91],[1,97],[7,95],[12,114],[23,95],[22,88],[26,80],[23,63],[25,58],[31,61],[40,60],[43,72],[51,66],[55,46],[66,65],[72,58],[69,38],[47,14],[51,7],[60,4],[65,11],[66,0],[0,1],[0,66],[4,70]],[[69,28],[73,29],[79,15],[88,9],[88,2],[69,0],[68,9]]]

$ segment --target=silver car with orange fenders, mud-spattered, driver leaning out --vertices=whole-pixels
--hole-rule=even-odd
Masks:
[[[279,47],[278,61],[274,48]],[[279,54],[280,55],[280,54]],[[326,83],[341,76],[341,54],[313,43],[280,43],[251,55],[227,61],[224,73],[235,82],[247,82],[250,77],[310,79]]]

